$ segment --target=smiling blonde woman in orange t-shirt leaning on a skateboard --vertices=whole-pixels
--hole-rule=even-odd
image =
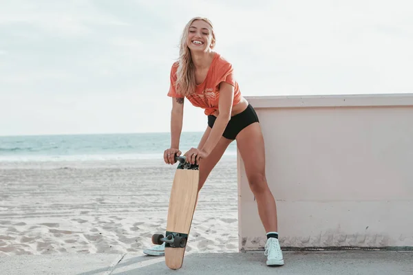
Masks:
[[[187,23],[180,41],[180,57],[171,67],[172,98],[171,148],[165,150],[167,164],[175,164],[179,150],[184,98],[195,107],[204,109],[208,126],[197,148],[184,155],[191,164],[200,166],[198,192],[209,173],[233,140],[244,161],[246,176],[255,195],[260,219],[266,230],[265,255],[267,265],[284,265],[277,233],[275,199],[268,188],[265,175],[264,139],[255,110],[240,93],[231,63],[214,52],[215,34],[209,19],[195,17]],[[164,255],[165,245],[144,251]]]

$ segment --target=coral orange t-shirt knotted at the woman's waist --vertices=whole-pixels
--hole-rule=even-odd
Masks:
[[[168,96],[173,98],[184,98],[176,93],[175,83],[176,83],[176,72],[178,70],[178,62],[173,63],[171,67],[171,85],[169,86]],[[234,87],[234,98],[233,105],[240,102],[242,96],[240,92],[240,87],[235,80],[233,66],[231,63],[226,61],[220,54],[215,52],[213,61],[209,66],[209,71],[204,82],[200,85],[196,85],[196,89],[193,94],[187,96],[187,99],[193,106],[201,107],[205,109],[204,113],[206,115],[211,115],[218,110],[218,101],[220,99],[220,83],[226,82]]]

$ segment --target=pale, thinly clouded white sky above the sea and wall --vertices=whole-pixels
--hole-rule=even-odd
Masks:
[[[169,70],[198,15],[244,96],[413,92],[412,14],[411,0],[0,0],[0,135],[169,131]],[[183,131],[206,126],[186,102]]]

